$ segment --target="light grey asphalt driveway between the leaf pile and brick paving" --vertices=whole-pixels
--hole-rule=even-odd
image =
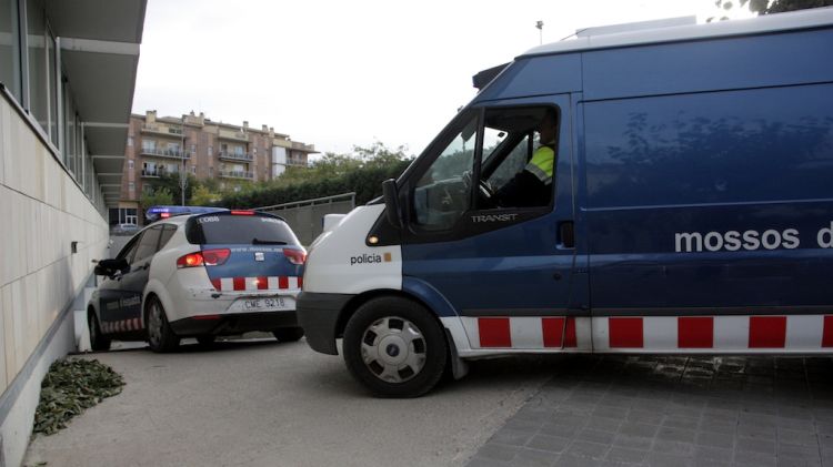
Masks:
[[[460,466],[552,375],[555,358],[475,362],[416,399],[378,399],[307,344],[222,342],[99,353],[124,376],[26,465]]]

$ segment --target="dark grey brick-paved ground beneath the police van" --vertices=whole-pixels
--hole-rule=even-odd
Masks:
[[[469,466],[833,466],[830,358],[575,357]]]

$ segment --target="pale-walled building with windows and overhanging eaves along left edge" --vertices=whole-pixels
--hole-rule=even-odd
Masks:
[[[0,465],[107,257],[145,0],[0,0]]]

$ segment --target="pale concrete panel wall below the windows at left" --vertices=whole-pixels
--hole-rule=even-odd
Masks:
[[[107,221],[0,94],[0,393],[4,396],[12,384],[39,389],[42,373],[29,372],[37,384],[14,378],[82,291],[92,271],[91,261],[104,255],[108,235]],[[76,254],[71,253],[73,241],[79,242]],[[72,321],[68,323],[71,332]],[[66,354],[71,344],[69,339],[66,348],[58,351],[50,346],[51,352],[36,356],[44,362],[33,364],[48,367],[49,358]],[[33,394],[19,399],[24,406],[37,405]],[[34,406],[22,409],[34,413]],[[12,412],[20,410],[16,406]],[[12,436],[8,422],[16,418],[20,419],[0,420],[7,465],[19,465],[22,459],[22,451],[17,458],[17,451],[9,450],[12,439],[7,437]],[[32,424],[31,416],[28,418],[26,427],[14,426],[13,432],[28,437]]]

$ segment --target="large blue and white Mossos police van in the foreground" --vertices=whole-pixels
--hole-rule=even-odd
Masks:
[[[383,396],[518,353],[833,353],[831,45],[827,8],[582,37],[478,74],[384,196],[311,245],[309,345],[343,337]]]

